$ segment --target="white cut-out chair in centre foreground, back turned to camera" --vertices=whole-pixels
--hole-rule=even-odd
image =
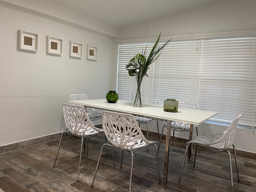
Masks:
[[[97,173],[98,166],[99,166],[99,162],[100,162],[100,157],[101,157],[103,148],[106,145],[111,146],[111,148],[114,147],[114,148],[122,150],[120,168],[122,168],[122,160],[123,160],[124,151],[128,151],[131,153],[129,192],[131,191],[131,184],[132,184],[132,169],[133,169],[134,152],[142,147],[148,146],[149,144],[154,145],[155,150],[156,150],[158,180],[159,180],[159,183],[161,183],[156,142],[148,141],[144,137],[134,116],[131,114],[123,114],[123,113],[107,112],[107,111],[103,111],[102,114],[103,114],[102,127],[103,127],[104,133],[105,133],[108,141],[110,142],[110,144],[106,143],[106,144],[102,145],[102,148],[100,150],[100,156],[98,159],[98,163],[96,166],[96,170],[95,170],[95,173],[93,176],[91,186],[93,187],[94,180],[95,180],[96,173]]]

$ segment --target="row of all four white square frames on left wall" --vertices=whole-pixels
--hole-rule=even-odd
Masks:
[[[18,48],[22,50],[38,51],[38,34],[18,30]],[[48,54],[62,54],[62,39],[46,36],[46,53]],[[69,41],[69,56],[82,58],[83,44]],[[98,60],[98,47],[86,46],[86,59]]]

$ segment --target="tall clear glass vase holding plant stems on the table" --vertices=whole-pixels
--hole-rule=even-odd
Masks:
[[[133,88],[132,88],[132,106],[143,107],[144,106],[144,87],[143,81],[138,81],[134,78]]]

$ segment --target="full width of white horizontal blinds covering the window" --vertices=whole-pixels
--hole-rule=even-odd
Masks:
[[[154,42],[119,44],[117,90],[131,100],[134,77],[126,64],[150,51]],[[161,46],[163,43],[160,43]],[[255,126],[255,36],[171,41],[144,77],[145,97],[163,104],[166,98],[195,102],[219,114],[211,120],[230,123],[242,113],[240,124]]]

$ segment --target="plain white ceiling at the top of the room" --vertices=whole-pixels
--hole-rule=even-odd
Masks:
[[[207,6],[220,0],[50,0],[122,28],[150,19]]]

